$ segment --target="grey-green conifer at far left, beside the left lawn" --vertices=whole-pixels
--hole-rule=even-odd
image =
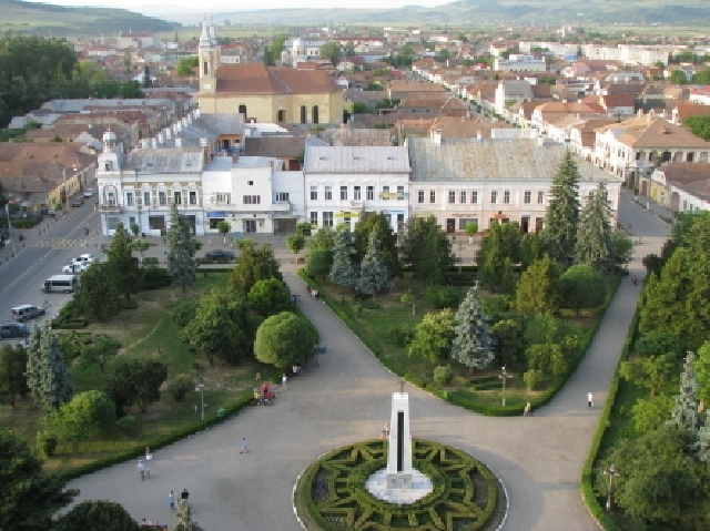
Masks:
[[[59,409],[74,394],[69,370],[59,351],[59,340],[49,323],[38,325],[30,336],[27,384],[34,404],[44,411]]]

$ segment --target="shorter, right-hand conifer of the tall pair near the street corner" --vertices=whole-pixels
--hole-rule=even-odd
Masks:
[[[589,194],[589,200],[581,211],[575,245],[575,264],[591,266],[602,274],[609,272],[613,263],[610,216],[607,187],[599,183],[597,191]]]

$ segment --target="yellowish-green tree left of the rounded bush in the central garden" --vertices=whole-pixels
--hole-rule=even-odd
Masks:
[[[535,261],[520,275],[516,289],[516,307],[524,314],[540,314],[559,310],[559,268],[552,259],[545,257]]]

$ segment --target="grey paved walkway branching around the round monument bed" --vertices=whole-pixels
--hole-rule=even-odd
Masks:
[[[626,202],[621,211],[620,223],[631,224],[636,237],[643,239],[630,264],[631,273],[642,277],[640,258],[658,252],[668,228],[635,204]],[[273,407],[247,408],[219,427],[156,451],[145,482],[133,461],[72,481],[70,487],[81,489],[77,501],[114,500],[139,521],[172,523],[168,493],[187,488],[195,520],[205,530],[301,529],[291,508],[296,477],[334,447],[376,438],[389,418],[390,394],[399,380],[320,299],[305,296],[292,264],[284,269],[293,293],[304,295],[304,313],[328,345],[318,356],[320,367],[307,365],[304,375],[278,392]],[[578,370],[534,417],[483,417],[407,386],[415,437],[468,451],[505,482],[510,498],[506,529],[597,529],[581,502],[579,477],[639,290],[629,282],[621,284]],[[595,395],[594,409],[587,407],[589,391]],[[250,453],[239,452],[242,437]]]

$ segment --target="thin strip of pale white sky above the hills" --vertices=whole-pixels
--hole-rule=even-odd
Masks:
[[[387,9],[403,6],[434,7],[449,3],[453,0],[38,0],[43,3],[57,6],[93,6],[105,8],[122,8],[139,13],[170,13],[170,12],[233,12],[254,9],[288,9],[288,8],[361,8],[361,9]]]

